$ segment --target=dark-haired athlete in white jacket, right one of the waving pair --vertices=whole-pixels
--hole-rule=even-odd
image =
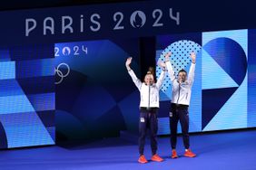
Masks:
[[[174,71],[172,70],[172,64],[170,61],[171,53],[165,55],[165,65],[172,80],[172,104],[170,110],[170,128],[171,128],[171,145],[172,145],[172,158],[177,158],[176,143],[177,143],[177,127],[180,120],[182,126],[182,138],[183,145],[185,147],[184,156],[194,157],[190,149],[189,138],[189,112],[188,108],[191,100],[192,83],[194,80],[195,71],[195,54],[191,53],[192,65],[188,74],[182,70],[178,73],[178,79],[176,79]]]

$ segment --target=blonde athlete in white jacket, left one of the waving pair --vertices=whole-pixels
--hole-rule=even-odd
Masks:
[[[154,82],[153,72],[148,71],[144,77],[144,82],[139,80],[134,74],[133,70],[130,68],[132,62],[132,57],[128,58],[125,62],[125,66],[130,76],[133,79],[134,84],[138,88],[141,94],[140,102],[140,123],[139,123],[139,153],[140,157],[138,159],[139,163],[147,163],[144,152],[146,131],[150,129],[151,137],[151,148],[152,148],[152,160],[157,162],[162,162],[162,158],[156,154],[157,151],[157,111],[159,109],[159,90],[162,85],[162,81],[165,76],[165,71],[162,71],[159,79]]]

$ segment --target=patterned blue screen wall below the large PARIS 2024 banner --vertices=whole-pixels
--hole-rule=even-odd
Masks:
[[[156,36],[155,63],[172,52],[175,72],[188,71],[189,54],[197,52],[190,132],[256,127],[255,34],[234,30]],[[59,140],[137,132],[139,92],[124,61],[133,56],[132,68],[143,78],[138,39],[18,46],[0,52],[2,148],[52,145],[55,126]],[[160,95],[159,135],[166,135],[172,100],[168,76]]]

